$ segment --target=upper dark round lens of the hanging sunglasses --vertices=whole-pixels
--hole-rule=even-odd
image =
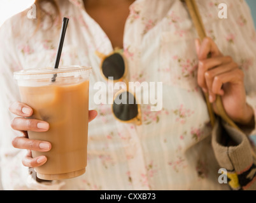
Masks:
[[[121,79],[124,75],[124,58],[118,53],[105,58],[103,65],[103,74],[106,78],[113,77],[114,80]]]

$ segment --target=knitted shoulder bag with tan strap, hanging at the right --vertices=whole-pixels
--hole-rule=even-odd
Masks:
[[[185,0],[201,40],[206,37],[195,0]],[[232,190],[256,190],[256,155],[248,136],[227,116],[220,96],[215,101],[220,116],[215,117],[209,97],[205,95],[211,125],[211,143],[220,171]]]

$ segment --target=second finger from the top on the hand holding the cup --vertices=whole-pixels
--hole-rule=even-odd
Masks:
[[[45,121],[16,117],[11,121],[11,128],[18,131],[45,132],[48,131],[50,126]]]

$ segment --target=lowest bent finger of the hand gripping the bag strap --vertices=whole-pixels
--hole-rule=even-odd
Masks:
[[[231,82],[232,84],[241,84],[244,80],[243,70],[233,69],[229,72],[225,72],[224,74],[217,75],[213,81],[213,91],[219,92],[222,88],[222,85]]]

